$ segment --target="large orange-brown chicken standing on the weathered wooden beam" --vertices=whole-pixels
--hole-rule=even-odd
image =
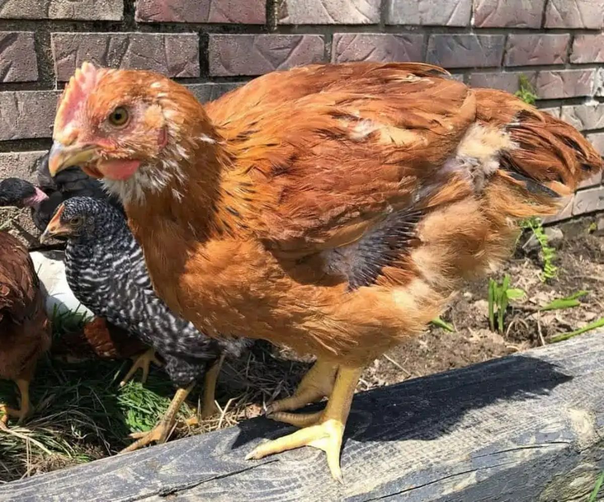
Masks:
[[[439,314],[602,169],[579,132],[424,64],[312,65],[205,108],[144,71],[85,64],[63,93],[50,172],[119,195],[158,295],[210,336],[312,353],[269,416],[300,426],[248,458],[339,453],[368,363]],[[324,411],[290,411],[328,396]]]

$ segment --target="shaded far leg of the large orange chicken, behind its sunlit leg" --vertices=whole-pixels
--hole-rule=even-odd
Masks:
[[[308,403],[314,403],[325,396],[329,396],[333,390],[336,371],[338,371],[337,365],[317,360],[308,373],[304,375],[294,395],[271,403],[266,408],[266,414],[270,416],[277,411],[291,411],[292,409],[302,408]]]

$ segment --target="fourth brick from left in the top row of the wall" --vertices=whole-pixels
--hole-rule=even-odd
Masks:
[[[386,24],[467,26],[472,0],[388,0]]]

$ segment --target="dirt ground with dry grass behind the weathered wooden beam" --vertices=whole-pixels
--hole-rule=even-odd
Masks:
[[[410,339],[374,361],[362,375],[358,390],[402,382],[538,347],[547,344],[556,334],[581,328],[602,318],[604,236],[590,233],[594,229],[594,218],[562,224],[559,228],[564,233],[564,238],[553,243],[559,269],[557,279],[541,281],[539,250],[526,245],[526,236],[521,238],[515,255],[504,269],[493,275],[493,278],[500,279],[504,273],[509,274],[512,287],[522,288],[526,292],[525,299],[514,302],[508,308],[503,334],[493,333],[489,329],[487,281],[467,284],[442,316],[454,326],[455,331],[431,326],[422,336]],[[581,298],[578,307],[538,312],[540,306],[552,299],[572,295],[579,290],[587,290],[589,293]],[[181,425],[176,428],[173,437],[213,431],[234,425],[239,420],[258,416],[266,403],[288,396],[294,391],[311,361],[309,357],[297,357],[288,350],[257,342],[241,360],[225,364],[217,388],[217,402],[221,407],[219,416],[198,421],[196,409],[199,406],[199,396],[194,393],[188,401],[188,408],[182,409]],[[114,394],[118,395],[117,390],[112,391],[110,387],[113,384],[108,385],[102,380],[104,374],[111,379],[116,368],[120,368],[120,363],[115,364],[117,366],[99,362],[100,369],[94,376],[100,383],[86,383],[86,389],[78,389],[77,385],[80,384],[73,383],[79,382],[80,373],[77,368],[50,364],[49,367],[53,373],[59,373],[60,379],[53,384],[54,387],[38,390],[38,396],[34,396],[37,399],[34,402],[36,415],[21,428],[11,424],[12,433],[0,431],[0,483],[106,457],[128,444],[123,433],[123,422],[132,423],[132,417],[130,422],[124,420],[132,410],[127,409],[128,405],[124,405],[123,400],[119,402],[119,399],[114,399]],[[46,377],[40,375],[44,371],[43,368],[39,370],[38,382],[38,379]],[[106,373],[102,373],[103,371]],[[162,389],[159,394],[167,403],[171,393],[169,382],[161,370],[152,373],[151,382],[146,386],[154,388],[153,382],[159,382],[156,388]],[[33,384],[34,390],[35,385],[36,382]],[[51,397],[62,393],[66,385],[76,389],[73,392],[77,397],[67,403],[60,400],[57,402],[56,398],[51,400]],[[91,410],[99,411],[99,406],[95,404],[95,393],[100,393],[101,390],[105,393],[102,399],[98,399],[103,401],[98,416],[88,409],[80,408],[85,406],[85,400],[81,396],[85,394],[85,390],[88,391],[88,387],[92,389],[90,393],[94,397],[94,402],[88,404]],[[110,405],[113,406],[111,409]],[[63,408],[69,410],[65,411]],[[115,420],[111,422],[110,419]],[[151,420],[147,425],[153,423],[155,415]],[[117,431],[115,424],[122,428]],[[132,430],[132,426],[130,428]],[[14,432],[21,436],[14,435]],[[3,434],[9,434],[10,437],[5,435],[2,438]],[[47,445],[52,454],[37,448],[33,442],[36,438]],[[63,445],[62,448],[50,448],[55,443]],[[4,452],[1,452],[2,448]],[[57,450],[60,452],[57,453]]]

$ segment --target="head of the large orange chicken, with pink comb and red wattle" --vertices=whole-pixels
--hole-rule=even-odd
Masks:
[[[50,173],[77,165],[103,178],[124,203],[140,201],[174,178],[182,181],[180,163],[204,123],[193,94],[167,77],[84,63],[57,108]]]

